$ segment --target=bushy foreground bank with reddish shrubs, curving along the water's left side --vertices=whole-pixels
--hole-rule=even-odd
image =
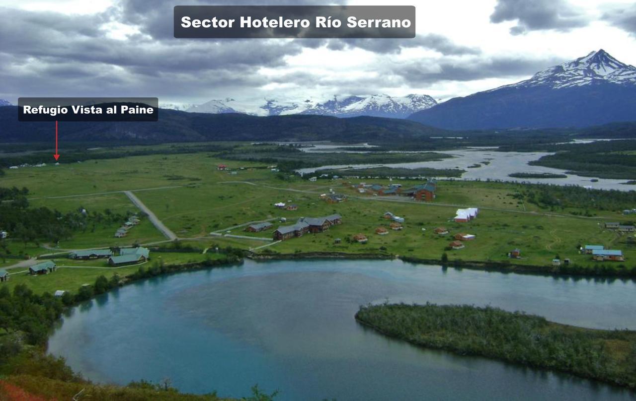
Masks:
[[[40,399],[38,396],[61,399],[71,398],[81,391],[84,397],[109,400],[229,400],[219,398],[214,393],[179,393],[170,386],[169,381],[151,383],[142,380],[131,382],[128,386],[92,384],[73,372],[63,358],[47,355],[46,341],[48,333],[54,323],[59,321],[65,308],[74,308],[94,296],[146,278],[183,271],[225,268],[242,262],[240,255],[230,252],[224,259],[139,266],[137,271],[123,277],[116,273],[110,279],[99,276],[92,285],[82,285],[77,292],[66,292],[62,297],[53,297],[48,292],[34,294],[24,284],[15,287],[13,294],[3,287],[0,290],[0,299],[10,307],[0,311],[4,322],[4,333],[0,336],[0,349],[3,350],[0,355],[0,375],[3,376],[0,381],[0,397],[7,397],[8,400]]]

